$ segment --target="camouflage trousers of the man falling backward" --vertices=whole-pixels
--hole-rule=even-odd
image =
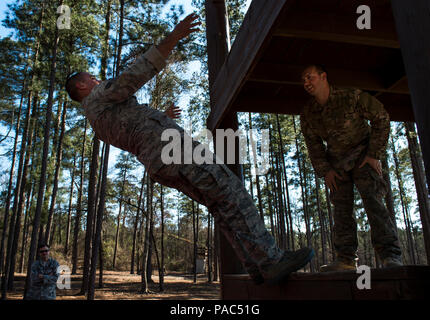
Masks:
[[[154,112],[151,117],[158,119],[157,124],[153,126],[156,131],[172,128],[179,130],[181,144],[184,146],[182,128],[159,112]],[[148,118],[145,121],[148,124],[147,121]],[[152,153],[159,155],[160,159],[165,143],[159,141],[151,144]],[[197,146],[199,143],[193,141],[192,149]],[[183,159],[183,148],[181,152]],[[149,175],[154,181],[175,188],[206,206],[246,271],[253,278],[259,277],[260,271],[264,272],[267,266],[280,261],[283,251],[276,246],[274,238],[265,228],[242,181],[226,165],[216,164],[215,155],[212,153],[211,157],[213,164],[152,163],[149,167],[160,168],[155,171],[149,170]],[[141,162],[147,161],[144,155],[138,155],[138,159]]]

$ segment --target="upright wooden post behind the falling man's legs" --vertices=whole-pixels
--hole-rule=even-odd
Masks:
[[[225,0],[206,0],[206,37],[208,47],[208,69],[209,69],[209,92],[211,93],[211,108],[215,106],[213,100],[212,87],[215,83],[217,75],[224,64],[228,52],[230,50],[230,36],[229,36],[229,25],[228,15],[226,10]],[[237,114],[231,113],[225,117],[218,129],[231,128],[234,131],[238,129]],[[215,134],[214,134],[215,136]],[[237,142],[237,141],[236,141]],[[242,178],[242,167],[239,164],[239,149],[238,143],[236,143],[236,161],[235,165],[229,165],[229,168]],[[226,152],[224,152],[226,160]],[[226,161],[225,161],[226,163]],[[223,290],[223,275],[225,274],[237,274],[244,273],[244,269],[239,259],[236,256],[230,243],[220,233],[220,262],[221,262],[221,285],[222,285],[222,296],[224,296]]]

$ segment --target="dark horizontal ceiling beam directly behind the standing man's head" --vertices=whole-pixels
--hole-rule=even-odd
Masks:
[[[249,81],[273,83],[277,85],[302,86],[300,74],[305,66],[286,64],[259,63]],[[405,82],[395,83],[387,87],[382,77],[367,70],[328,69],[328,79],[331,84],[340,87],[354,87],[368,91],[409,94]]]

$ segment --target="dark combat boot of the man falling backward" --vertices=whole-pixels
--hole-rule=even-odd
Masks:
[[[274,285],[284,280],[291,272],[303,268],[314,256],[312,248],[302,248],[297,251],[285,251],[281,260],[262,270],[264,283]]]

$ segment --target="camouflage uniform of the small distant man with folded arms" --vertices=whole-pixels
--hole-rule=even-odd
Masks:
[[[57,260],[49,258],[48,261],[36,260],[31,266],[31,288],[28,294],[32,300],[55,300],[57,280],[59,277]],[[39,279],[43,274],[43,279]]]

